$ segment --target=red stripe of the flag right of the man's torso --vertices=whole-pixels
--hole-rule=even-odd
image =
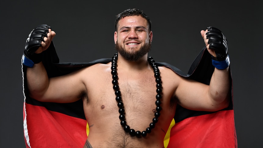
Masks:
[[[189,117],[171,128],[168,148],[235,148],[234,111]]]

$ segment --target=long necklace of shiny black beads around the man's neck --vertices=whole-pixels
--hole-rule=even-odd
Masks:
[[[125,121],[125,115],[124,115],[124,104],[121,99],[121,91],[119,90],[119,85],[118,85],[118,76],[117,76],[117,60],[118,60],[118,54],[116,53],[111,60],[111,74],[112,74],[112,84],[113,84],[113,89],[115,90],[115,95],[116,95],[116,101],[117,105],[119,107],[119,119],[121,120],[121,126],[123,126],[123,129],[125,132],[128,132],[131,136],[136,136],[136,137],[145,137],[147,133],[150,133],[152,129],[155,127],[155,124],[158,122],[158,117],[160,116],[160,111],[162,110],[162,107],[160,106],[161,101],[160,99],[162,98],[161,93],[162,93],[162,85],[161,85],[161,78],[160,78],[160,70],[158,66],[155,64],[155,61],[153,60],[152,57],[148,57],[148,62],[151,64],[151,67],[153,68],[154,72],[154,77],[155,77],[155,82],[156,84],[156,112],[154,113],[154,118],[153,122],[150,123],[149,127],[146,128],[145,131],[136,131],[132,128],[130,128],[129,125],[127,125],[127,122]]]

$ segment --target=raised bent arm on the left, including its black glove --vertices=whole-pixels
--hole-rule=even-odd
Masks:
[[[29,95],[43,102],[68,103],[80,99],[85,90],[81,73],[74,72],[61,77],[48,78],[42,59],[42,52],[48,49],[56,33],[47,25],[36,27],[26,41],[23,65],[27,67]]]

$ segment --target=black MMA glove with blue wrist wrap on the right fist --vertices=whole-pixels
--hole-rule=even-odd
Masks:
[[[228,44],[224,34],[215,27],[207,27],[206,38],[210,49],[214,49],[216,57],[212,56],[212,63],[218,69],[225,69],[229,66]]]

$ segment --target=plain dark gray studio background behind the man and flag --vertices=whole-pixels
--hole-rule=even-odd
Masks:
[[[256,0],[1,1],[0,147],[25,148],[21,56],[31,30],[52,27],[60,62],[111,58],[115,16],[128,8],[143,10],[152,21],[149,56],[184,72],[204,47],[201,30],[213,26],[225,34],[238,146],[262,146],[262,6]]]

